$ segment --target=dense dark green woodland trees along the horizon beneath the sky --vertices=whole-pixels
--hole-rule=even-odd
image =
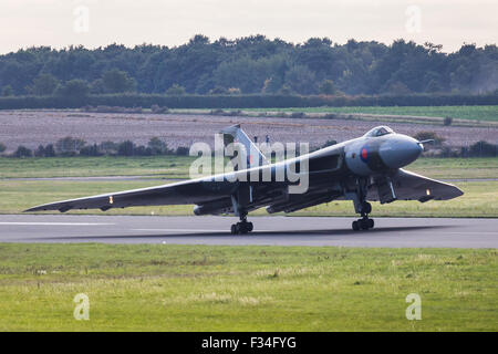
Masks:
[[[195,35],[168,48],[111,44],[22,49],[0,55],[2,96],[496,94],[498,50],[396,40],[391,45],[311,38]]]

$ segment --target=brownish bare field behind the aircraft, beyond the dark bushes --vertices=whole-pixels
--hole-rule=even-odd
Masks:
[[[0,143],[12,152],[19,145],[35,148],[65,136],[83,138],[90,144],[104,140],[133,140],[147,144],[153,136],[164,138],[169,147],[189,146],[194,142],[214,143],[222,127],[240,123],[249,136],[272,142],[309,142],[320,146],[335,139],[343,142],[385,124],[374,121],[239,117],[187,114],[114,114],[79,111],[0,111]],[[415,135],[430,131],[452,146],[468,146],[478,140],[498,143],[497,127],[459,127],[409,123],[388,123],[398,133]]]

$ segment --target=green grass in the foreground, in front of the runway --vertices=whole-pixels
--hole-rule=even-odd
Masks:
[[[1,243],[0,331],[497,331],[497,271],[496,250]]]

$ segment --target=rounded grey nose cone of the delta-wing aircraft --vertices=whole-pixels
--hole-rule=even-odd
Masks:
[[[390,168],[401,168],[412,164],[421,156],[422,144],[406,135],[396,135],[381,145],[378,154]]]

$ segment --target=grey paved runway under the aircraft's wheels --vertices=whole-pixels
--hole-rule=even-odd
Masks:
[[[497,248],[498,219],[375,218],[352,231],[354,218],[252,217],[255,231],[232,236],[234,217],[0,216],[0,242]]]

